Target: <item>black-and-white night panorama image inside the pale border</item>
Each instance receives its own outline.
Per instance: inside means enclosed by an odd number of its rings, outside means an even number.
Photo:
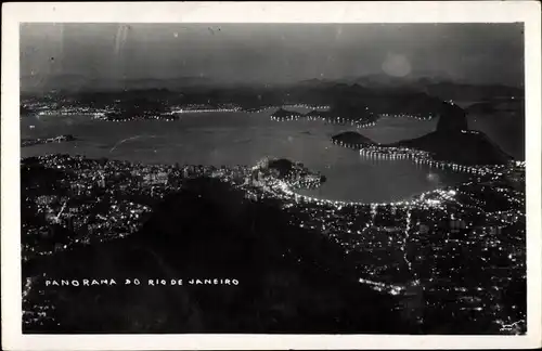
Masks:
[[[525,23],[16,36],[24,336],[534,332]]]

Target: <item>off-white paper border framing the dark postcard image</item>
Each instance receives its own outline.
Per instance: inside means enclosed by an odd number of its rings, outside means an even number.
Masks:
[[[124,2],[2,4],[2,348],[5,350],[465,349],[541,346],[541,24],[538,1]],[[18,24],[93,23],[475,23],[524,22],[526,39],[527,336],[23,336],[20,247]]]

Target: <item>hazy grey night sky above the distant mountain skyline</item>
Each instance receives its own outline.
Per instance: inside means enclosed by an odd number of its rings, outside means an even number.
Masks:
[[[519,86],[522,24],[25,24],[23,86],[205,77],[295,82],[383,74]]]

